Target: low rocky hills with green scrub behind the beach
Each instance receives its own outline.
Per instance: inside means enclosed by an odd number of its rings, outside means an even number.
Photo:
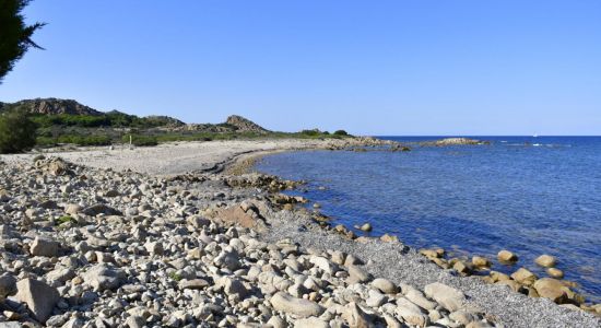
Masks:
[[[209,141],[248,138],[347,138],[318,130],[297,133],[269,131],[241,116],[222,124],[185,124],[169,116],[139,117],[119,110],[101,112],[72,99],[37,98],[1,103],[4,110],[24,110],[37,125],[38,147],[62,144],[108,145],[129,143],[154,145],[168,141]]]

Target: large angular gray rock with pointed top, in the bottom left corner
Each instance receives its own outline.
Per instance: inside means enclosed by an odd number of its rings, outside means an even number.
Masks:
[[[19,281],[16,290],[15,298],[27,304],[33,317],[40,323],[48,319],[60,300],[57,289],[30,278]]]

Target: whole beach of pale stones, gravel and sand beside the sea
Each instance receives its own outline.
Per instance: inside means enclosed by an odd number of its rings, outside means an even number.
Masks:
[[[599,305],[582,311],[462,277],[394,236],[349,238],[295,207],[306,199],[280,194],[298,183],[244,169],[270,152],[382,143],[2,155],[0,327],[601,326]],[[507,280],[542,296],[564,288],[523,279]]]

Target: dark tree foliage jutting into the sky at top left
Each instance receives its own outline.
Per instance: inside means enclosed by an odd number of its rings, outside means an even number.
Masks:
[[[0,0],[0,84],[30,47],[42,49],[32,35],[44,23],[26,25],[21,11],[31,0]]]

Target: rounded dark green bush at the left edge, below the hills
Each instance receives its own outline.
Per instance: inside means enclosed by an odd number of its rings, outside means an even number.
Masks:
[[[0,115],[0,153],[19,153],[35,145],[36,125],[25,112],[11,110]]]

